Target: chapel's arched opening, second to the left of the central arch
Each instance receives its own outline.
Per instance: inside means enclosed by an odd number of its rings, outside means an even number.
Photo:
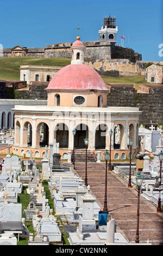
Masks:
[[[49,145],[49,127],[46,123],[40,123],[36,128],[36,146],[44,148]]]

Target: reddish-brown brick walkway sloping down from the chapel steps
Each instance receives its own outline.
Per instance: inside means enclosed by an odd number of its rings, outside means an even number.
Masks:
[[[76,163],[76,170],[85,178],[85,163]],[[105,188],[105,163],[87,163],[87,180],[97,203],[103,210]],[[137,191],[128,188],[121,175],[108,172],[107,202],[109,214],[115,218],[124,237],[135,243],[137,220]],[[147,240],[153,245],[163,245],[163,214],[156,212],[156,205],[140,195],[140,243]]]

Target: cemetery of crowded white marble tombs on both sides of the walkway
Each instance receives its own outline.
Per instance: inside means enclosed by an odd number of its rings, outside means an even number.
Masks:
[[[159,156],[163,154],[162,130],[156,130],[154,144],[151,139],[151,152],[146,150],[146,133],[150,131],[140,126],[141,148],[134,162],[115,161],[111,163],[111,169],[127,182],[130,178],[133,187],[136,186],[136,175],[141,172],[141,196],[155,205],[160,202],[161,208],[163,192],[160,189]],[[116,220],[109,211],[102,211],[91,186],[86,186],[82,176],[75,171],[72,151],[67,161],[62,162],[59,145],[54,139],[49,145],[49,155],[45,151],[41,159],[40,168],[32,157],[32,150],[29,157],[23,159],[11,156],[10,144],[7,149],[8,153],[1,161],[0,174],[1,245],[18,245],[24,237],[29,246],[136,245],[130,243],[123,233],[117,232]],[[154,156],[152,160],[149,157],[151,153]],[[97,161],[105,168],[101,156],[98,155]],[[23,210],[18,199],[20,194],[29,196]],[[147,241],[143,244],[151,245]]]

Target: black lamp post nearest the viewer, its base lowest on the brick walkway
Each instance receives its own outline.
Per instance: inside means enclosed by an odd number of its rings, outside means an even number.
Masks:
[[[136,176],[136,185],[137,185],[137,227],[136,227],[136,243],[139,243],[139,210],[140,210],[140,188],[142,185],[142,175],[140,173],[138,173],[138,175]]]

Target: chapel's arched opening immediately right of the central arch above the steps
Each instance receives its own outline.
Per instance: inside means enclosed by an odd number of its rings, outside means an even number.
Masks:
[[[105,124],[99,124],[96,128],[95,149],[105,149],[106,131],[108,127]]]

